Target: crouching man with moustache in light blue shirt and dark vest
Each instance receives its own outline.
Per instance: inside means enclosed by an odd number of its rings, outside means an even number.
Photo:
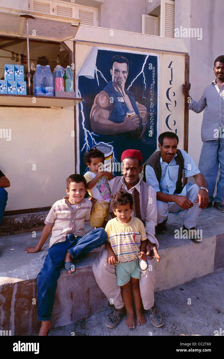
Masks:
[[[157,198],[157,228],[159,234],[166,231],[166,221],[169,213],[183,215],[183,228],[196,229],[195,220],[201,208],[207,206],[209,197],[205,178],[196,167],[192,158],[184,151],[177,150],[178,136],[173,132],[164,132],[159,136],[160,151],[153,154],[146,162],[146,182],[156,191]],[[183,170],[185,177],[193,176],[195,185],[191,182],[182,186]],[[191,238],[200,243],[202,238]]]

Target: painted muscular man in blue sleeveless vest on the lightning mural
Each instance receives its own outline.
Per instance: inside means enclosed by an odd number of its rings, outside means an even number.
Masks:
[[[124,56],[115,55],[111,59],[112,81],[95,97],[91,112],[91,128],[102,135],[115,135],[129,132],[131,136],[141,137],[145,132],[147,109],[135,101],[124,88],[128,76],[129,62]],[[128,111],[136,114],[127,117]]]

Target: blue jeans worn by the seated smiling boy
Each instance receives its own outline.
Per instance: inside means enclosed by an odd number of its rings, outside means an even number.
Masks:
[[[103,228],[93,229],[85,236],[75,237],[68,234],[64,242],[53,244],[46,255],[44,265],[37,275],[38,320],[50,320],[55,301],[57,280],[60,277],[61,266],[68,251],[72,258],[84,256],[93,248],[105,244],[108,235]]]

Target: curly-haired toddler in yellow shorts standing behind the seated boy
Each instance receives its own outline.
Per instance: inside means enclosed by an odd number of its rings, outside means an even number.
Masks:
[[[93,197],[96,202],[94,203],[94,210],[90,216],[90,225],[94,228],[105,228],[108,221],[109,203],[110,203],[110,189],[108,180],[112,180],[114,175],[108,171],[100,170],[104,163],[104,154],[91,148],[86,152],[84,162],[90,171],[84,174],[87,182],[88,194]]]

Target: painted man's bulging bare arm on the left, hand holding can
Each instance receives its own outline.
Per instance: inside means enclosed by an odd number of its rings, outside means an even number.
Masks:
[[[101,91],[96,95],[91,112],[90,122],[91,129],[101,135],[115,135],[136,129],[139,126],[139,118],[137,115],[133,117],[124,117],[124,122],[115,123],[109,120],[113,111],[113,103],[106,91]]]

